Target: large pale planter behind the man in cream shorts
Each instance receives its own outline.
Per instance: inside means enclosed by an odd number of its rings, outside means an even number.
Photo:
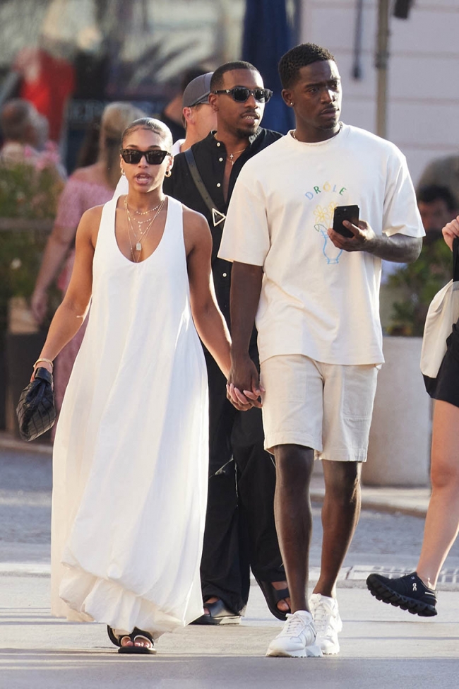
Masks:
[[[378,374],[366,485],[428,485],[431,399],[419,369],[422,338],[385,337]]]

